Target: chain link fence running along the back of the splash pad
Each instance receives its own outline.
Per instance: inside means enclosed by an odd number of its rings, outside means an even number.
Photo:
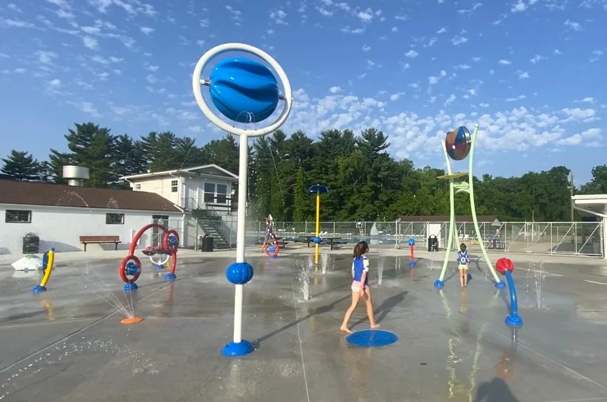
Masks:
[[[234,217],[234,219],[236,219]],[[447,240],[448,222],[321,222],[319,232],[325,236],[341,237],[352,243],[360,240],[372,243],[408,247],[410,237],[426,242],[430,234],[439,238],[441,248]],[[601,222],[504,222],[479,223],[480,239],[471,222],[456,223],[459,243],[472,250],[480,250],[480,241],[492,251],[525,252],[531,254],[567,254],[601,257],[603,227]],[[259,237],[266,228],[265,222],[247,223],[247,236]],[[310,236],[316,232],[314,222],[275,222],[274,231],[279,237]]]

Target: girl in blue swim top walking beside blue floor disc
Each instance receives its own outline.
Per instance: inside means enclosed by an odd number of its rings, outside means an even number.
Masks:
[[[375,315],[373,314],[373,303],[371,301],[371,288],[369,287],[369,259],[366,254],[369,252],[369,245],[366,241],[359,242],[354,248],[354,261],[352,261],[352,304],[346,311],[344,323],[341,324],[341,330],[350,334],[352,331],[348,329],[348,321],[354,310],[358,306],[361,297],[364,297],[367,305],[367,316],[371,328],[379,328],[379,324],[375,323]]]

